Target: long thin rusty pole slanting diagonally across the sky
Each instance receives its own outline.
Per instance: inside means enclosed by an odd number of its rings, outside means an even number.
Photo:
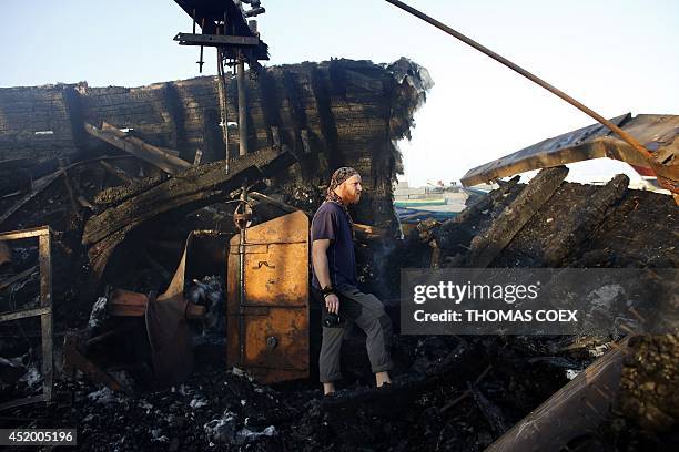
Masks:
[[[530,72],[526,71],[521,66],[519,66],[517,64],[514,64],[511,61],[507,60],[506,58],[495,53],[490,49],[479,44],[478,42],[476,42],[476,41],[465,37],[460,32],[453,30],[450,27],[446,25],[445,23],[442,23],[442,22],[437,21],[436,19],[434,19],[434,18],[432,18],[432,17],[429,17],[429,16],[427,16],[427,14],[425,14],[425,13],[418,11],[418,10],[416,10],[413,7],[407,6],[406,3],[402,2],[402,1],[398,1],[398,0],[386,0],[386,1],[392,3],[392,4],[394,4],[395,7],[398,7],[398,8],[403,9],[404,11],[407,11],[411,14],[413,14],[413,16],[422,19],[422,20],[424,20],[425,22],[436,27],[437,29],[439,29],[442,31],[445,31],[446,33],[448,33],[448,34],[459,39],[465,44],[468,44],[468,45],[473,47],[474,49],[485,53],[488,56],[490,56],[495,61],[497,61],[497,62],[506,65],[507,68],[511,69],[513,71],[516,71],[519,74],[524,75],[526,79],[537,83],[538,85],[543,86],[545,90],[547,90],[550,93],[559,96],[560,99],[563,99],[564,101],[568,102],[569,104],[571,104],[576,109],[585,112],[589,116],[591,116],[595,120],[597,120],[599,123],[604,124],[605,126],[607,126],[608,129],[614,131],[627,144],[629,144],[635,150],[637,150],[646,158],[648,158],[648,160],[652,158],[652,154],[646,147],[643,147],[634,136],[631,136],[630,134],[625,132],[622,129],[618,127],[617,125],[615,125],[614,123],[608,121],[606,117],[604,117],[600,114],[598,114],[597,112],[595,112],[594,110],[591,110],[591,109],[587,107],[586,105],[581,104],[580,102],[576,101],[575,99],[572,99],[571,96],[569,96],[565,92],[563,92],[563,91],[556,89],[555,86],[550,85],[549,83],[547,83],[543,79],[531,74]]]

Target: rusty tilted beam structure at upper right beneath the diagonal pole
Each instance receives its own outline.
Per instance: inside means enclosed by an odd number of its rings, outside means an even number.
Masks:
[[[652,158],[641,157],[630,145],[614,136],[607,127],[595,124],[545,140],[469,170],[462,183],[472,186],[531,170],[609,157],[634,166],[652,168],[658,175],[658,182],[668,189],[672,189],[668,183],[679,184],[679,115],[640,114],[632,119],[631,114],[627,113],[612,119],[611,122],[652,152]]]

